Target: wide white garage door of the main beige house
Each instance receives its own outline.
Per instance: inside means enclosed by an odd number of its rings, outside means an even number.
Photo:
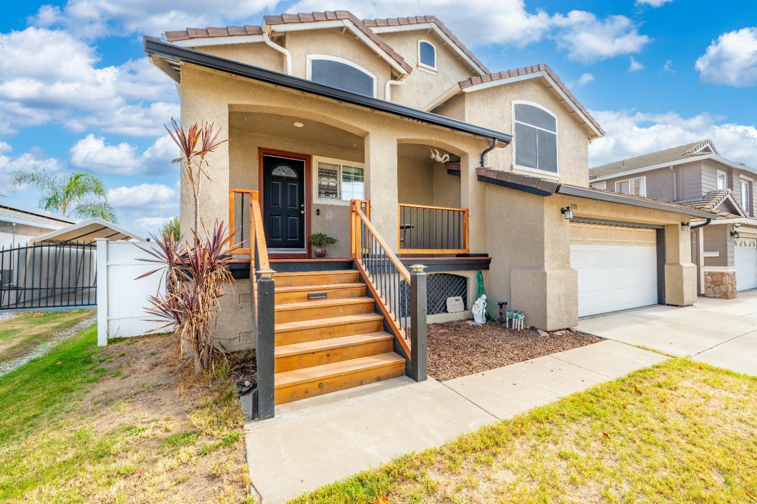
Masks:
[[[657,304],[655,230],[575,222],[570,227],[579,317]]]

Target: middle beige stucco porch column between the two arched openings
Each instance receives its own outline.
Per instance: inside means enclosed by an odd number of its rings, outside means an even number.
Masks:
[[[376,128],[366,136],[366,199],[371,222],[397,252],[397,136]]]

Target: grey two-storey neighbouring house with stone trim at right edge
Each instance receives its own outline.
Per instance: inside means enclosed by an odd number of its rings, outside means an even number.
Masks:
[[[757,289],[757,169],[724,158],[711,140],[615,161],[589,170],[597,189],[714,211],[691,231],[698,292],[734,299]]]

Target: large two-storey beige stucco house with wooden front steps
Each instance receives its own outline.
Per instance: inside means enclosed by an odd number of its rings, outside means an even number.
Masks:
[[[360,20],[346,11],[167,32],[145,37],[145,52],[178,84],[182,124],[213,122],[229,136],[208,156],[204,222],[232,221],[237,252],[249,254],[250,211],[260,205],[278,271],[277,402],[389,377],[398,372],[392,355],[400,365],[410,357],[397,333],[407,334],[407,280],[395,283],[403,267],[394,252],[403,265],[428,266],[429,320],[449,296],[470,308],[478,270],[492,304],[506,301],[545,330],[696,301],[684,226],[714,214],[591,189],[588,145],[603,130],[544,64],[493,74],[435,17]],[[182,179],[185,229],[191,199]],[[352,200],[369,200],[369,209]],[[309,259],[316,232],[339,240],[332,258]],[[249,278],[249,256],[238,257],[236,277]],[[378,321],[373,299],[360,304],[362,282],[380,298]],[[218,340],[249,348],[249,286],[223,302]],[[397,336],[396,353],[371,340],[390,353],[354,359],[373,355],[363,337],[382,329]],[[335,356],[345,337],[360,352]],[[312,357],[312,368],[279,361],[298,355]],[[354,365],[344,371],[354,380],[323,378],[335,360]]]

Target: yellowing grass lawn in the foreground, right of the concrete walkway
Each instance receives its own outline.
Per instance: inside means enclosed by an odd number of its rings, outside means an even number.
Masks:
[[[293,502],[382,496],[757,502],[757,378],[674,358]]]

